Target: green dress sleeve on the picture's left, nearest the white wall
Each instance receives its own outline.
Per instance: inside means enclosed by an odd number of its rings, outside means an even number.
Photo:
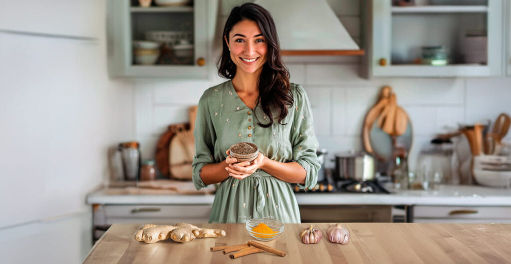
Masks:
[[[208,92],[209,91],[206,90],[199,100],[195,129],[193,132],[195,138],[195,156],[192,162],[192,180],[197,189],[207,187],[200,178],[202,167],[215,162],[213,155],[216,133],[208,107]]]

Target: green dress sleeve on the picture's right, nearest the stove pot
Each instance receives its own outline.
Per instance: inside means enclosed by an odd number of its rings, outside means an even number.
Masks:
[[[306,171],[305,184],[298,184],[300,188],[311,189],[317,183],[317,174],[320,169],[316,150],[318,141],[314,133],[312,110],[307,93],[300,85],[295,85],[293,124],[291,128],[291,144],[293,147],[293,161],[304,167]]]

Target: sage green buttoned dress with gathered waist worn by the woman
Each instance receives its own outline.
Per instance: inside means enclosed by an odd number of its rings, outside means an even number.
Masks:
[[[202,166],[227,158],[225,151],[238,142],[252,142],[266,157],[299,163],[307,172],[301,188],[312,188],[317,182],[319,163],[312,111],[304,88],[291,84],[294,103],[286,118],[263,128],[268,116],[260,107],[255,115],[236,93],[229,80],[207,89],[199,101],[195,122],[195,156],[193,182],[197,189],[206,187],[200,178]],[[272,112],[274,113],[274,112]],[[275,118],[276,114],[273,114]],[[229,177],[217,189],[210,223],[245,223],[251,218],[270,218],[284,223],[300,223],[300,211],[291,184],[259,169],[238,180]]]

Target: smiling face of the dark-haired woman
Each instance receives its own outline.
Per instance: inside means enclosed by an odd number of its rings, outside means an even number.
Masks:
[[[230,58],[237,66],[237,71],[260,73],[266,62],[268,45],[259,26],[251,20],[242,20],[229,32]],[[225,38],[225,37],[224,37]]]

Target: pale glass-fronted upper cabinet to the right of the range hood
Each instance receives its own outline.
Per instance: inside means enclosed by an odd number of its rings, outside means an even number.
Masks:
[[[502,0],[366,4],[367,77],[502,75]]]

